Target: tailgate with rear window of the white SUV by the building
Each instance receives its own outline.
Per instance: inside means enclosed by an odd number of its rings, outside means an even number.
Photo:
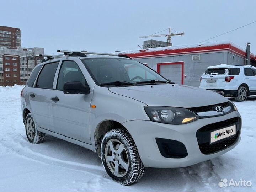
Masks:
[[[210,68],[202,75],[201,87],[218,89],[226,86],[226,75],[228,68]]]

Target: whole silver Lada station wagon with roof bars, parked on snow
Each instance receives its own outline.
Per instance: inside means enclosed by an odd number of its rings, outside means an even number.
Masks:
[[[240,142],[241,116],[225,97],[125,55],[63,52],[37,65],[21,92],[29,142],[49,134],[91,149],[122,185],[145,167],[194,165]]]

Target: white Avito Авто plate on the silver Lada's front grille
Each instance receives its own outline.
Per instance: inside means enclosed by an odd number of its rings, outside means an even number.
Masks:
[[[230,126],[211,132],[211,143],[225,139],[236,134],[236,126]]]

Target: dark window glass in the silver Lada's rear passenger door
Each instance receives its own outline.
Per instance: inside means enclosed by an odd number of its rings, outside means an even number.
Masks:
[[[52,89],[58,64],[59,62],[44,65],[41,73],[39,74],[36,87]]]

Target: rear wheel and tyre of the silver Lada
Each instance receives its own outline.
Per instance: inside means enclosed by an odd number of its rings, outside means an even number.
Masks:
[[[25,121],[26,135],[30,143],[38,144],[44,141],[45,134],[37,130],[31,113],[28,113]]]

